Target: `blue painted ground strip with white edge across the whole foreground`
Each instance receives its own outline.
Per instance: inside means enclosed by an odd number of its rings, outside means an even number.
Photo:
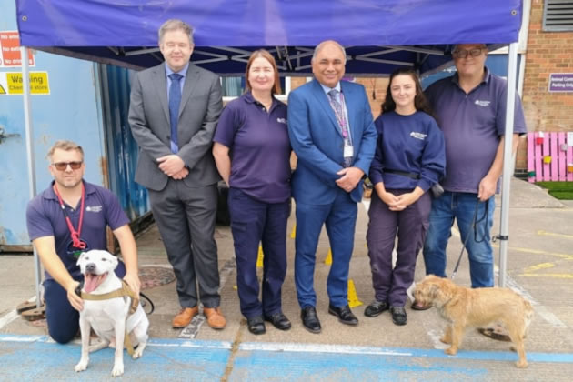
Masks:
[[[75,373],[80,345],[56,344],[46,336],[0,335],[2,380],[102,380],[110,377],[114,350],[90,355],[88,369]],[[487,380],[488,365],[517,360],[513,352],[401,347],[353,347],[246,342],[233,351],[228,341],[153,338],[141,359],[125,353],[124,380]],[[484,363],[483,361],[488,361]],[[528,353],[530,363],[573,363],[573,354]],[[508,365],[513,367],[513,365]]]

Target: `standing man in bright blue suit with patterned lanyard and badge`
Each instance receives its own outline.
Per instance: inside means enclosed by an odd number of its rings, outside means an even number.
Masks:
[[[288,97],[288,131],[297,154],[292,192],[297,202],[295,283],[303,325],[321,330],[313,286],[323,224],[332,249],[328,313],[343,324],[358,320],[347,304],[348,267],[354,247],[362,178],[374,157],[377,131],[362,85],[340,81],[346,53],[336,41],[317,45],[315,79]]]

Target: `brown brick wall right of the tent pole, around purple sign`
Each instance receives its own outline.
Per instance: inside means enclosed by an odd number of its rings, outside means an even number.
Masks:
[[[549,93],[551,73],[573,73],[573,32],[545,32],[544,0],[531,0],[523,84],[528,131],[573,131],[573,93]],[[527,145],[521,142],[516,169],[527,169]]]

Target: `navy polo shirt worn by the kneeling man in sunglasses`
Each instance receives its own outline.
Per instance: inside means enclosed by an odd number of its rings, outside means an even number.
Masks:
[[[119,205],[119,200],[111,191],[85,181],[84,185],[84,223],[80,238],[87,244],[86,249],[107,249],[106,226],[116,230],[120,226],[129,224],[129,219]],[[54,181],[28,203],[25,212],[28,236],[30,240],[54,236],[55,252],[70,275],[77,278],[80,275],[80,269],[76,266],[77,259],[72,253],[72,236],[65,223],[65,216],[53,186]],[[65,204],[65,210],[75,229],[78,228],[79,223],[79,206],[78,203],[78,208],[75,209]],[[50,279],[52,276],[46,272],[45,278]]]

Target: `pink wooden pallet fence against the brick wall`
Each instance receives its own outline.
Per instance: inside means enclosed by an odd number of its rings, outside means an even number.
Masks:
[[[543,143],[538,144],[539,132],[528,133],[528,181],[573,181],[573,172],[568,171],[568,164],[573,165],[573,146],[567,146],[567,133],[542,134]],[[544,161],[544,158],[548,157]],[[550,158],[550,163],[547,163]],[[569,170],[571,167],[569,167]]]

